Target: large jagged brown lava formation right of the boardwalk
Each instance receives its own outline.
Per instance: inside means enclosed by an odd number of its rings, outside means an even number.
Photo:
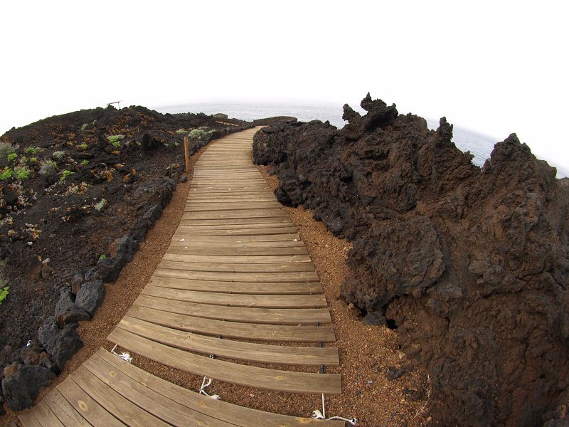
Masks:
[[[569,381],[568,179],[515,134],[479,168],[445,117],[368,96],[342,130],[284,122],[255,136],[278,199],[353,241],[343,296],[398,327],[430,372],[444,425],[560,426]]]

